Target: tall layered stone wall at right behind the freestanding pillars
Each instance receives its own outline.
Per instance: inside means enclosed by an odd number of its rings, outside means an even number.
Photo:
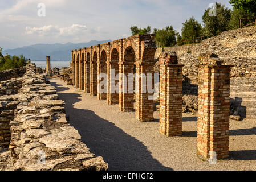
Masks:
[[[174,51],[178,64],[184,64],[183,111],[197,109],[197,74],[202,53],[215,53],[231,68],[231,114],[253,119],[256,114],[254,89],[256,77],[256,26],[222,32],[219,36],[205,39],[200,44],[157,48],[155,72],[159,72],[159,55]],[[239,89],[238,89],[239,88]],[[249,93],[250,92],[250,93]]]

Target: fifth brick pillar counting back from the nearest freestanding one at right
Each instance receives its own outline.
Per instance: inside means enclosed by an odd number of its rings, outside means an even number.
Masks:
[[[117,61],[107,62],[107,104],[118,104],[119,95],[116,92],[116,86],[119,80],[115,80],[115,77],[119,73],[119,65]]]

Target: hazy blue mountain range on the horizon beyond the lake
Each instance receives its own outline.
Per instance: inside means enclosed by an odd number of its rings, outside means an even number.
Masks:
[[[6,55],[23,55],[26,59],[31,61],[45,61],[46,56],[51,56],[51,61],[71,61],[71,50],[83,47],[95,46],[96,44],[103,44],[111,42],[111,40],[92,40],[86,43],[66,43],[66,44],[34,44],[31,46],[24,46],[15,49],[3,50],[2,54]]]

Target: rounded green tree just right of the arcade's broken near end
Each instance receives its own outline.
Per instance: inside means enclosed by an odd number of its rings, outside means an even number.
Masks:
[[[160,46],[174,46],[176,44],[177,32],[172,26],[167,26],[165,29],[157,30],[154,28],[156,43]]]

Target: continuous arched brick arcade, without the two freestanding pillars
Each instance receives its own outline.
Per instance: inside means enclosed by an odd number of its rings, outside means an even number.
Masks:
[[[136,73],[135,65],[138,67],[137,73],[153,74],[156,51],[156,44],[153,39],[152,35],[135,35],[83,48],[84,52],[83,49],[82,52],[81,49],[73,50],[72,82],[79,87],[79,82],[81,82],[79,78],[84,78],[84,90],[88,93],[90,88],[91,96],[97,96],[98,99],[106,99],[108,104],[118,103],[121,111],[133,111],[135,109],[136,118],[140,121],[153,120],[153,100],[148,99],[153,93],[142,93],[141,84],[143,82],[140,81],[141,78],[137,82],[140,88],[139,92],[135,93],[136,81],[133,76]],[[84,56],[82,58],[79,57],[83,53]],[[79,65],[77,63],[81,59],[86,62],[83,65],[84,71],[78,69]],[[111,75],[111,70],[114,73],[113,75]],[[100,73],[107,74],[105,78],[107,79],[107,84],[102,88],[104,90],[103,93],[99,93],[97,89],[97,85],[103,80],[103,78],[97,79],[97,75]],[[119,73],[119,80],[117,73]],[[126,79],[124,79],[124,75]],[[132,75],[130,79],[129,75]],[[128,88],[129,81],[133,82],[131,88]],[[117,90],[120,90],[120,92],[116,92]],[[134,108],[135,100],[137,101]]]

